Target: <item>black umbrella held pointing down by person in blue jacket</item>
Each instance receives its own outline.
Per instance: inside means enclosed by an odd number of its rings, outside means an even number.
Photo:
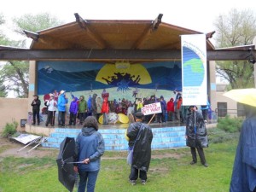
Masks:
[[[77,173],[73,171],[73,155],[75,153],[75,140],[73,137],[66,137],[60,146],[60,153],[57,158],[59,181],[69,190],[73,191]]]

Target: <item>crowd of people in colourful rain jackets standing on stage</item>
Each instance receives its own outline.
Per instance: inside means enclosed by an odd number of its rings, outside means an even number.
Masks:
[[[102,97],[97,96],[96,93],[93,96],[89,96],[88,100],[85,100],[84,96],[72,96],[72,102],[68,106],[68,99],[66,96],[66,91],[61,90],[58,92],[54,90],[53,93],[49,93],[44,97],[44,105],[47,109],[48,118],[45,125],[55,125],[55,113],[58,111],[58,125],[64,126],[66,121],[66,113],[69,113],[69,123],[68,125],[82,125],[82,122],[87,116],[93,115],[99,120],[100,116],[103,114],[103,124],[108,124],[106,115],[107,113],[124,113],[129,115],[129,113],[136,113],[141,111],[143,106],[152,104],[155,102],[160,102],[161,113],[157,113],[154,118],[153,115],[147,115],[144,122],[158,122],[166,123],[167,121],[177,121],[180,123],[185,122],[186,115],[188,113],[189,106],[183,106],[183,98],[180,92],[175,92],[176,98],[172,98],[166,102],[164,96],[148,96],[144,98],[135,98],[134,102],[128,101],[127,99],[113,99],[113,101],[108,101],[109,93],[104,89],[102,91]],[[41,102],[38,96],[34,96],[32,102],[32,113],[33,113],[33,125],[36,124],[36,119],[38,120],[38,125],[40,124],[39,111]],[[206,106],[201,106],[201,111],[203,113],[204,120],[207,122],[208,110],[210,109],[209,103]],[[67,111],[68,110],[68,111]],[[152,119],[153,118],[153,119]]]

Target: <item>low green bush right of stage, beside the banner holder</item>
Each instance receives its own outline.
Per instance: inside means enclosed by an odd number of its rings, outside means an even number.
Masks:
[[[242,121],[243,119],[230,118],[230,116],[227,115],[224,119],[218,119],[217,127],[220,130],[234,133],[237,131],[241,131]]]

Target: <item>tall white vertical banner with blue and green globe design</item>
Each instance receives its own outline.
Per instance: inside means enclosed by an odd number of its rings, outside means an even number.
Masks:
[[[205,34],[182,35],[183,105],[207,105]]]

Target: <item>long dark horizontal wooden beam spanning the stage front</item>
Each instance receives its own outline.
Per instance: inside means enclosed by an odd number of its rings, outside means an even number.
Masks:
[[[246,61],[256,50],[208,50],[207,61]],[[179,61],[177,49],[0,49],[0,61]]]

